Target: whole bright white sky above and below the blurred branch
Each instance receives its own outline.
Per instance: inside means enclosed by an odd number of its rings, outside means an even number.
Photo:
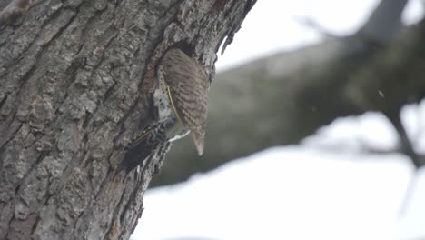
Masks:
[[[351,34],[377,3],[259,0],[217,68],[321,40],[296,17],[309,17],[335,35]],[[413,23],[422,12],[420,0],[410,0],[404,20]],[[412,136],[424,122],[420,114],[425,117],[425,104],[403,111]],[[415,136],[416,146],[425,152],[422,138]],[[403,155],[359,151],[364,145],[390,149],[396,144],[384,117],[337,119],[303,143],[275,147],[187,183],[149,191],[132,238],[425,239],[425,175],[400,216],[412,165]]]

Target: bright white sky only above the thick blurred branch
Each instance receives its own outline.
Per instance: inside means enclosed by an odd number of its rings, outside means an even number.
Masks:
[[[334,35],[355,32],[371,14],[379,0],[258,0],[242,23],[242,28],[216,63],[218,71],[249,60],[318,43],[321,35],[302,25],[309,18]],[[420,0],[410,0],[403,14],[407,24],[423,14]]]

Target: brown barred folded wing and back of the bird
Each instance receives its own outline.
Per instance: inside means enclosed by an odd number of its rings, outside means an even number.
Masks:
[[[183,125],[191,130],[198,154],[203,154],[209,82],[203,67],[180,49],[163,55],[163,77]]]

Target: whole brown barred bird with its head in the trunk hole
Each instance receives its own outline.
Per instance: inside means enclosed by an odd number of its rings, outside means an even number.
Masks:
[[[198,154],[203,155],[210,86],[203,67],[182,50],[172,48],[163,55],[156,79],[153,105],[158,119],[143,130],[124,155],[120,168],[127,173],[137,165],[144,164],[148,157],[164,155],[171,142],[189,133]]]

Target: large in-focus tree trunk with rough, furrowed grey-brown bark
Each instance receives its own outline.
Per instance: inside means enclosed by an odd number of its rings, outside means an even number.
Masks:
[[[124,181],[114,167],[154,121],[157,60],[175,45],[213,78],[254,3],[46,0],[4,25],[0,239],[128,239],[161,163]]]

